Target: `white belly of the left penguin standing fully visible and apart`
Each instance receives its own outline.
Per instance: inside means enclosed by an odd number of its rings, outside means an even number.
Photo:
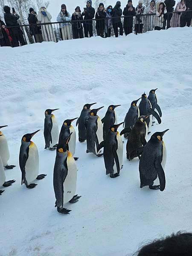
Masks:
[[[27,185],[32,183],[35,180],[39,173],[39,154],[38,149],[35,143],[31,141],[29,145],[29,156],[26,160],[25,165],[25,178],[27,181]]]

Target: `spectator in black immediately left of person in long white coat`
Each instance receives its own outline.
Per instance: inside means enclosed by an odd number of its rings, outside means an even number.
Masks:
[[[41,43],[43,41],[41,34],[41,26],[38,26],[38,18],[33,8],[29,8],[28,22],[30,25],[31,35],[35,38],[35,43]]]

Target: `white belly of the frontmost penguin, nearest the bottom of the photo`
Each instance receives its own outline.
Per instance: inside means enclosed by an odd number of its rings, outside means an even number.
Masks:
[[[77,166],[70,151],[67,151],[67,177],[64,180],[64,204],[69,202],[76,193]],[[64,207],[64,206],[63,206]]]

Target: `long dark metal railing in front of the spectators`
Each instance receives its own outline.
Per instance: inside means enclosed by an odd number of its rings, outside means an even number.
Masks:
[[[192,11],[107,17],[105,19],[71,20],[64,22],[38,23],[7,27],[13,47],[42,41],[62,41],[88,36],[113,37],[145,33],[151,30],[169,29],[177,26],[192,26]]]

